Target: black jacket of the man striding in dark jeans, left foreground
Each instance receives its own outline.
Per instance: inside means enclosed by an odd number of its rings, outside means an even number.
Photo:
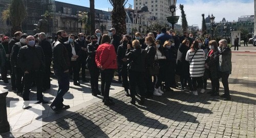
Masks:
[[[53,47],[53,68],[54,70],[67,71],[70,66],[70,58],[65,43],[56,41]]]

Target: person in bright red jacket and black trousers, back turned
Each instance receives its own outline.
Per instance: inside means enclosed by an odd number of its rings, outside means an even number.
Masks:
[[[109,94],[114,72],[117,69],[116,52],[114,46],[110,44],[110,37],[107,34],[102,36],[101,43],[96,51],[95,62],[100,68],[103,102],[104,105],[109,106],[115,104]]]

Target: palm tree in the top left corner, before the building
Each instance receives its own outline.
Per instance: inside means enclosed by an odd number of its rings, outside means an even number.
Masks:
[[[11,0],[7,9],[2,12],[4,21],[9,19],[12,24],[11,34],[22,31],[22,22],[26,18],[27,10],[22,0]]]

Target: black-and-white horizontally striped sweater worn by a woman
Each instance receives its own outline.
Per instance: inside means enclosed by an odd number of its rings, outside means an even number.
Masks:
[[[191,49],[188,50],[186,55],[186,61],[190,62],[194,54],[195,54],[195,51],[191,51]],[[204,53],[204,50],[199,49],[189,64],[190,77],[202,77],[204,76],[204,70],[205,70],[205,53]]]

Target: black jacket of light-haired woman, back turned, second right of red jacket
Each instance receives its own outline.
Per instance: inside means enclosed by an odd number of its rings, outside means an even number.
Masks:
[[[144,49],[128,49],[125,57],[129,58],[128,69],[136,72],[145,72],[147,64],[147,52]]]

